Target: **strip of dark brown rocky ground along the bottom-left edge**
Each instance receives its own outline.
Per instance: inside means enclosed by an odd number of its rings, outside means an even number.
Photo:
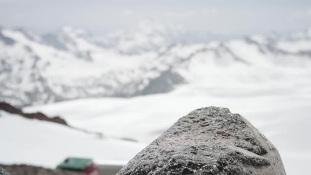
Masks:
[[[38,166],[31,166],[31,165],[0,165],[7,169],[11,175],[78,175],[84,174],[83,172],[77,171],[69,171],[69,170],[62,170],[62,169],[49,169],[43,168]],[[0,174],[1,169],[0,169]],[[4,175],[9,175],[4,174]]]

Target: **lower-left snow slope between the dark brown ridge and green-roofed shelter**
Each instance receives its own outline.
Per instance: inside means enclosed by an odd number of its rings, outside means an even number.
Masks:
[[[50,168],[69,156],[126,162],[145,146],[109,137],[99,139],[64,125],[26,119],[4,111],[0,111],[0,137],[1,163]]]

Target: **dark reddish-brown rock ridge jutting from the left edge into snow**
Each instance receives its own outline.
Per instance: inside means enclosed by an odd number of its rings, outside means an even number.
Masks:
[[[49,122],[55,122],[63,125],[68,125],[67,122],[60,118],[60,117],[48,117],[43,113],[37,112],[37,113],[24,113],[21,111],[19,108],[16,108],[12,106],[9,103],[6,102],[0,102],[0,110],[6,111],[11,114],[18,114],[20,116],[24,116],[29,119],[38,119],[38,120],[44,120],[44,121],[49,121]]]

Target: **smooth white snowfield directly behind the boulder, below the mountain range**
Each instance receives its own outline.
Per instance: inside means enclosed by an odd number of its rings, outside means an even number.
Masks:
[[[26,107],[61,115],[69,123],[108,135],[150,143],[190,111],[204,106],[222,106],[246,117],[278,148],[287,174],[309,173],[311,163],[311,93],[300,88],[257,90],[250,87],[211,90],[185,85],[168,94],[130,99],[98,98]],[[205,92],[205,93],[204,93]]]

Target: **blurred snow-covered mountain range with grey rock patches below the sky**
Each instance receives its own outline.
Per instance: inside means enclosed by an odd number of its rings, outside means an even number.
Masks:
[[[73,27],[46,35],[1,28],[0,100],[29,105],[165,93],[183,84],[260,82],[268,89],[276,81],[310,81],[311,30],[225,42],[189,43],[186,36],[150,21],[104,39]]]

